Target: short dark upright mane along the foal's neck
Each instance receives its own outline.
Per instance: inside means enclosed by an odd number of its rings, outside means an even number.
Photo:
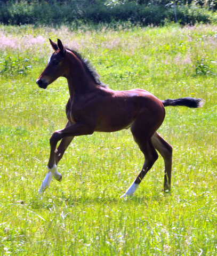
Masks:
[[[69,50],[70,52],[74,53],[78,57],[78,59],[82,61],[85,70],[93,78],[95,83],[97,83],[100,86],[107,87],[107,85],[103,84],[100,81],[100,79],[99,79],[100,76],[98,75],[97,71],[92,66],[92,64],[91,64],[91,62],[89,60],[87,60],[81,53],[79,53],[79,52],[77,52],[75,50],[72,50],[72,49],[69,49],[69,48],[66,48],[66,49]]]

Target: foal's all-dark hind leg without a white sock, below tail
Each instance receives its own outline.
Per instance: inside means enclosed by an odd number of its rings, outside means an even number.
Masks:
[[[164,174],[164,190],[171,189],[171,172],[172,172],[172,154],[173,148],[172,146],[166,142],[160,135],[155,132],[155,134],[151,137],[151,141],[157,151],[164,158],[165,164],[165,174]]]

